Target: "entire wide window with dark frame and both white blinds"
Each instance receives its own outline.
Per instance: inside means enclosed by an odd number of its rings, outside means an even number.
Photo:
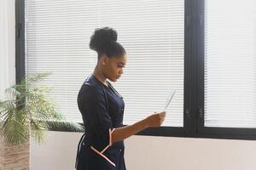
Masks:
[[[125,98],[126,124],[160,111],[168,90],[177,89],[163,126],[139,134],[256,139],[254,0],[17,4],[17,77],[25,64],[28,75],[51,71],[41,85],[53,85],[68,121],[82,121],[76,97],[96,65],[90,35],[110,26],[128,54],[125,74],[114,83]]]

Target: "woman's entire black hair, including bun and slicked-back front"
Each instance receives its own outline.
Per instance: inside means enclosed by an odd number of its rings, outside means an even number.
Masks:
[[[125,52],[125,48],[117,42],[117,31],[110,27],[96,28],[90,37],[90,49],[95,50],[98,58],[102,54],[106,54],[108,58],[121,57]]]

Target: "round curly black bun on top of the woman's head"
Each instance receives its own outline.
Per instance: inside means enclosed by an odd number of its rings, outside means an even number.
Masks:
[[[102,51],[104,44],[107,42],[117,41],[117,31],[109,27],[96,28],[90,37],[90,49],[96,52]]]

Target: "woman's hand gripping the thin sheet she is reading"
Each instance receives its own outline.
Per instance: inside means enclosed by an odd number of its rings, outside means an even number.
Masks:
[[[160,125],[165,121],[166,111],[154,112],[151,116],[146,118],[148,127],[160,127]]]

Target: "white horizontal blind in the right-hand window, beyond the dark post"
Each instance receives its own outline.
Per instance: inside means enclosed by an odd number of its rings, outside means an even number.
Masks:
[[[205,126],[256,127],[256,1],[206,1]]]

